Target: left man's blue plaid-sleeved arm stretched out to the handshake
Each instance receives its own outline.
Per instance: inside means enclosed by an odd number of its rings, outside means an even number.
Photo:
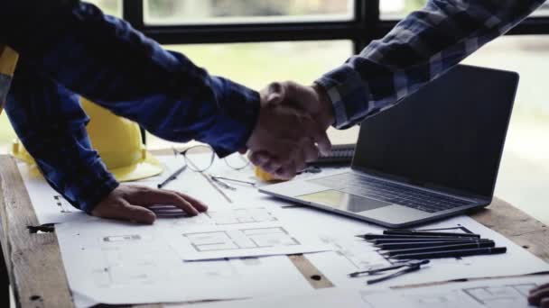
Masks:
[[[174,141],[200,140],[226,155],[243,148],[256,124],[259,95],[211,77],[93,5],[56,16],[48,43],[15,41],[37,70],[114,113]]]

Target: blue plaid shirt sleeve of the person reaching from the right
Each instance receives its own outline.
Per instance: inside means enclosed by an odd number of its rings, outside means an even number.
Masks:
[[[503,35],[544,0],[431,0],[386,37],[316,81],[349,128],[397,104]]]

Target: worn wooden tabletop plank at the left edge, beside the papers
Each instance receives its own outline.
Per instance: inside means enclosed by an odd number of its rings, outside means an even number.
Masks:
[[[0,168],[2,244],[17,306],[74,306],[57,238],[28,231],[38,220],[14,159],[0,156]]]

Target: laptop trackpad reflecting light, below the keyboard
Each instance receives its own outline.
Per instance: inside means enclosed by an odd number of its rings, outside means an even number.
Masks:
[[[352,213],[374,210],[391,205],[387,202],[374,200],[359,195],[350,195],[338,190],[324,190],[309,195],[299,195],[295,198],[314,204],[328,205],[330,207]]]

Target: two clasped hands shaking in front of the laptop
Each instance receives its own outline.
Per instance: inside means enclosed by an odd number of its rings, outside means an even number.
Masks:
[[[330,151],[326,130],[334,122],[333,107],[320,86],[273,83],[260,94],[256,128],[246,144],[254,165],[290,179],[316,160],[319,151]]]

